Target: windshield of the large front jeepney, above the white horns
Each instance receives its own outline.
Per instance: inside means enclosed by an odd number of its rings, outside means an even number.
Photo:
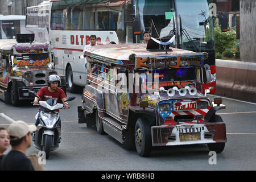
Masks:
[[[140,71],[141,82],[155,82],[157,80],[159,82],[196,80],[196,70],[195,68],[171,68]]]

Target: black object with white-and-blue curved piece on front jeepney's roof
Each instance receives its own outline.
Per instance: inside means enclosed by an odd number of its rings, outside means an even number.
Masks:
[[[147,51],[166,51],[167,54],[167,50],[170,51],[169,47],[170,44],[173,43],[175,40],[175,35],[172,36],[172,38],[151,38],[150,40],[148,40],[147,43]],[[172,51],[172,49],[171,49]]]

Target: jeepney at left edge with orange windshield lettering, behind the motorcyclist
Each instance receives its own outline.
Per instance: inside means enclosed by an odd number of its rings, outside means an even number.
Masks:
[[[57,74],[53,61],[51,45],[34,42],[34,34],[0,40],[0,99],[14,106],[33,100],[28,90],[37,92],[47,85],[49,75]],[[64,77],[59,86],[65,92]]]

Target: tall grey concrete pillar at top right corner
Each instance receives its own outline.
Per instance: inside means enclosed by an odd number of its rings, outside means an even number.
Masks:
[[[240,0],[241,61],[256,63],[256,1]]]

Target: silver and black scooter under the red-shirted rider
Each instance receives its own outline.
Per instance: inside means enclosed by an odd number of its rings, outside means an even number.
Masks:
[[[63,109],[64,107],[63,104],[57,103],[54,99],[40,101],[40,97],[36,95],[36,92],[31,90],[28,92],[38,97],[38,105],[45,109],[40,112],[40,123],[36,127],[35,142],[33,145],[39,150],[46,152],[46,159],[48,159],[50,152],[59,148],[60,115],[56,110]],[[72,101],[75,98],[68,97],[67,101]],[[36,114],[35,119],[38,118],[38,114]]]

